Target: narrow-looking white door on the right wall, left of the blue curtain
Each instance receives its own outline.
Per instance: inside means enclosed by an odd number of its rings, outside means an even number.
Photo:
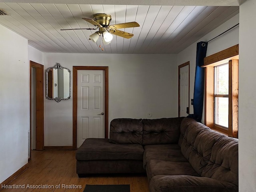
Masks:
[[[189,64],[180,67],[180,117],[189,114]]]

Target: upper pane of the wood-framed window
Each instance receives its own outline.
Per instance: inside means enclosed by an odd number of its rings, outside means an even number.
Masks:
[[[215,94],[228,94],[228,63],[215,67]]]

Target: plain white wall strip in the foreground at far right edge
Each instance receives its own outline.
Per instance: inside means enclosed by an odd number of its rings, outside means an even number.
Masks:
[[[256,192],[256,1],[240,6],[239,31],[239,191]]]

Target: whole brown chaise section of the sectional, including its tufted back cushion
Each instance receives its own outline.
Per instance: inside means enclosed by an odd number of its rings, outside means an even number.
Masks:
[[[76,152],[76,173],[145,173],[142,119],[114,119],[110,139],[87,138]]]

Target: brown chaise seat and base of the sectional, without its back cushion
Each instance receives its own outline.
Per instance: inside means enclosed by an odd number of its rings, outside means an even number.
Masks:
[[[117,145],[109,139],[88,138],[76,153],[76,173],[87,174],[143,173],[143,152],[140,144]]]

